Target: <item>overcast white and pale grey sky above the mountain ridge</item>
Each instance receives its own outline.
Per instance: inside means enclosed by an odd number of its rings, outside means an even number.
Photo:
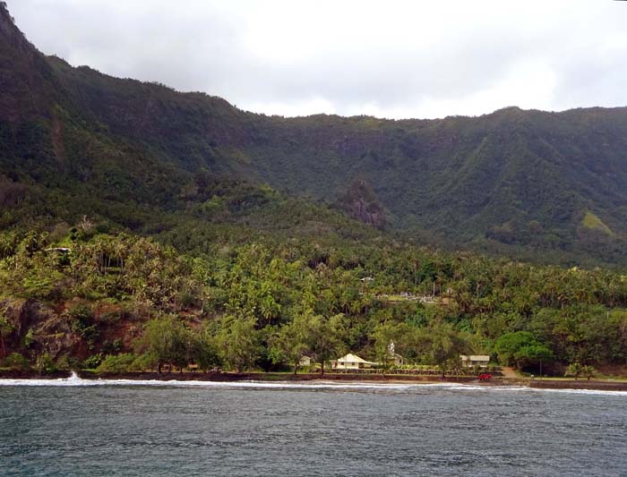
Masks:
[[[627,105],[627,2],[7,0],[73,65],[268,115]]]

